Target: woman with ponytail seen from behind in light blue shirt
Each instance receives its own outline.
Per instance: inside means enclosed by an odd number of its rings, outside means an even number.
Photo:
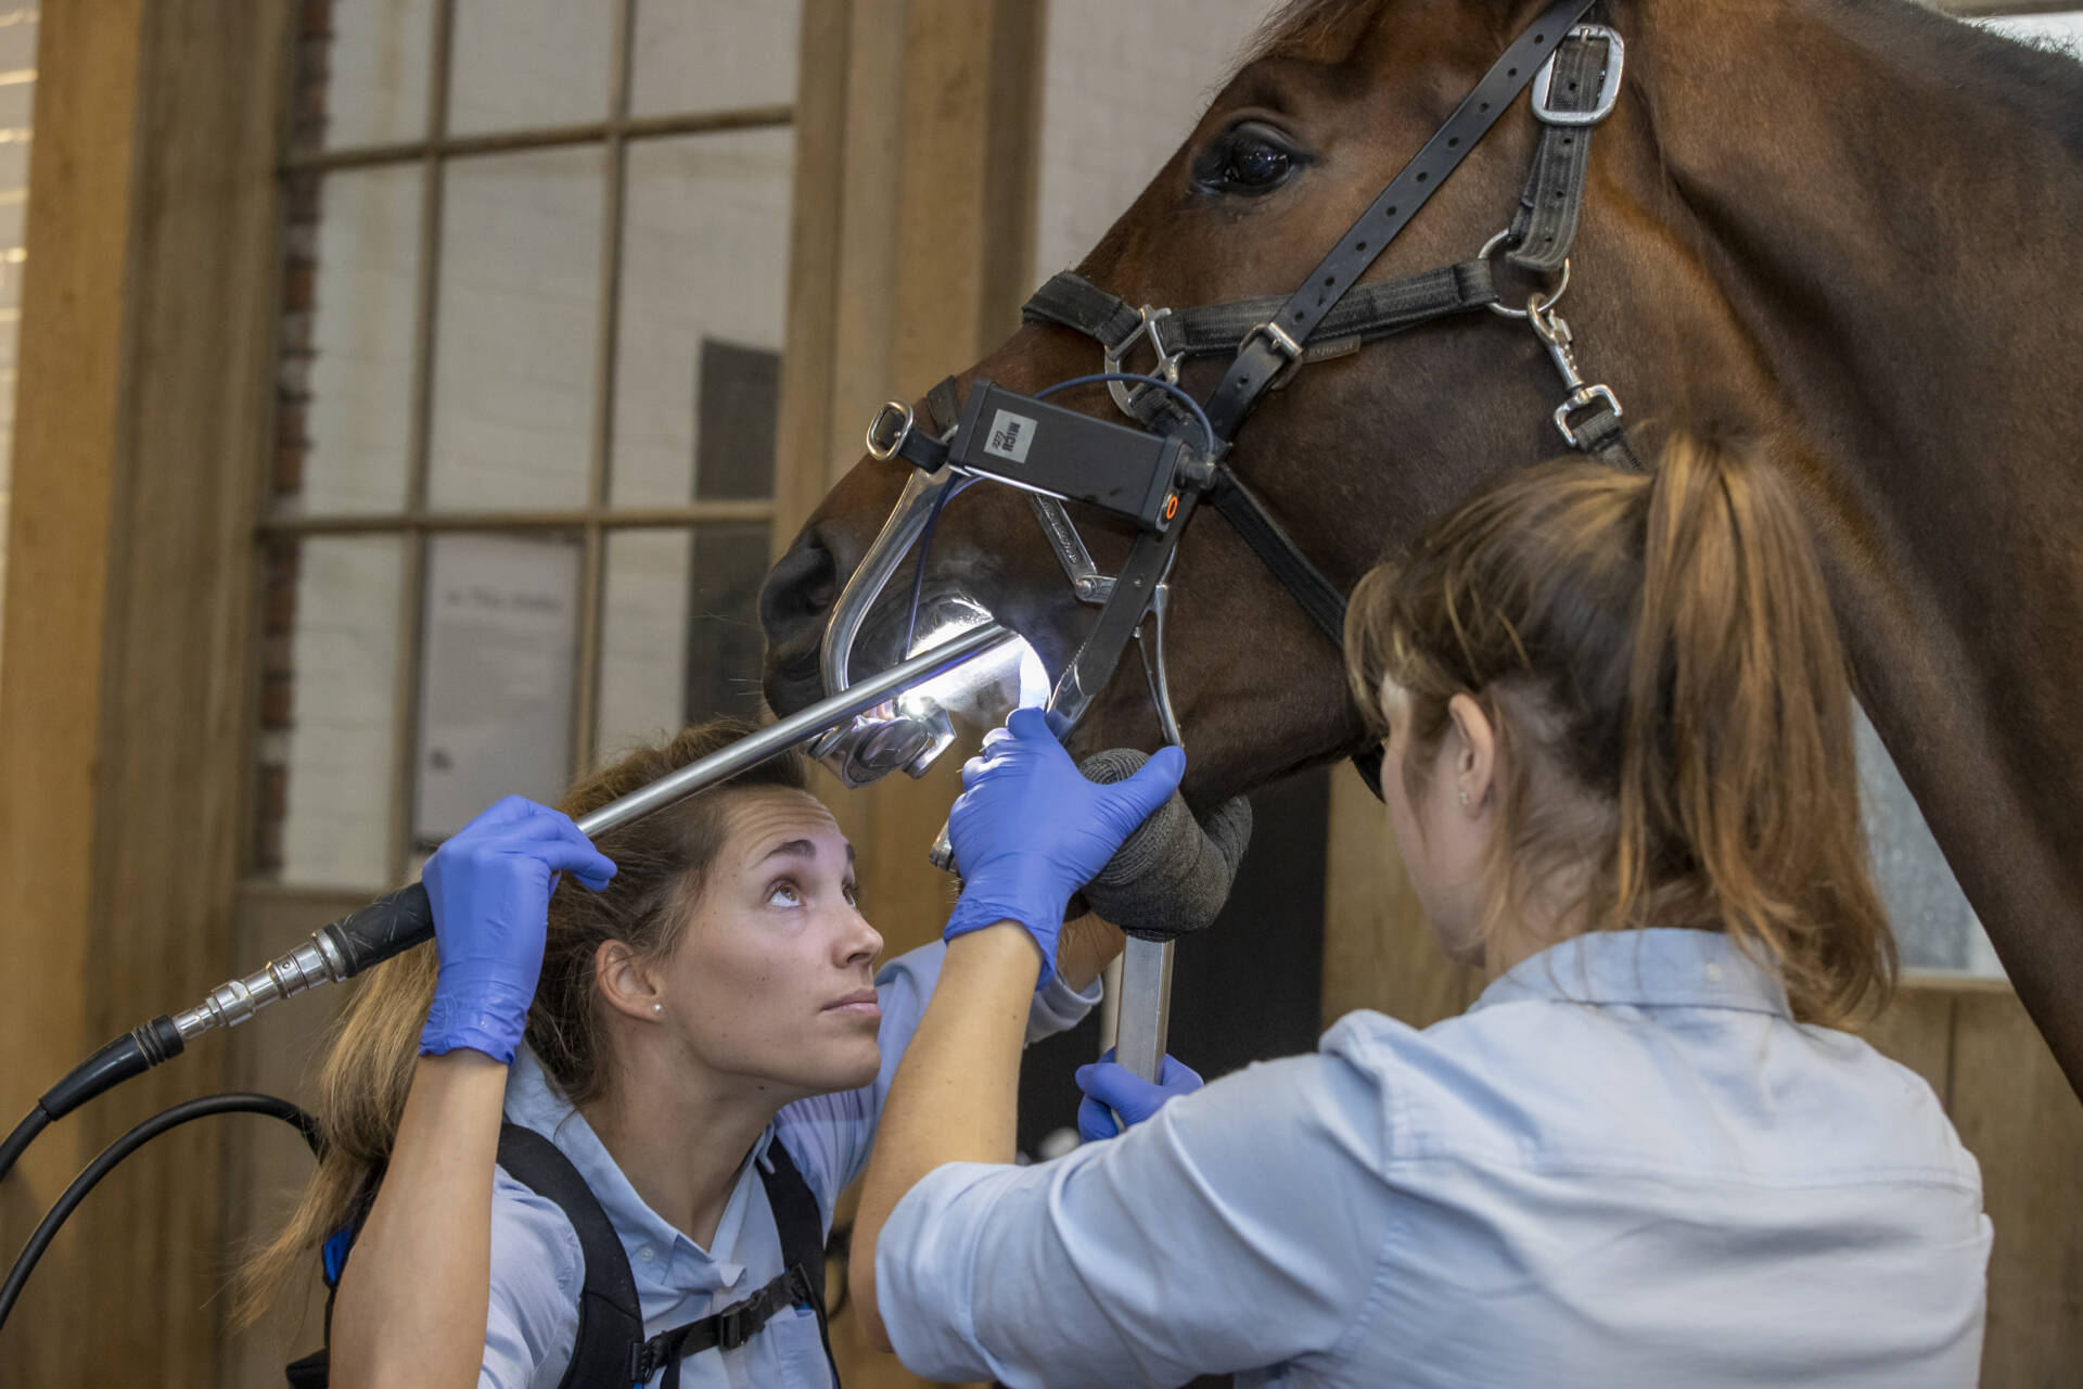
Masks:
[[[1014,1168],[1027,923],[956,941],[854,1229],[871,1331],[1012,1389],[1977,1383],[1981,1175],[1854,1035],[1896,956],[1785,479],[1683,439],[1506,475],[1360,583],[1346,660],[1481,997],[1110,1077],[1127,1133]],[[969,768],[962,862],[1048,810],[1019,771]]]

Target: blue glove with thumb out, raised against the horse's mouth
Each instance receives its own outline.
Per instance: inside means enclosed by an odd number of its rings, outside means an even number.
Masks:
[[[1087,781],[1042,710],[1012,710],[1006,727],[983,739],[983,754],[962,766],[962,795],[948,812],[962,898],[944,937],[1017,920],[1042,948],[1048,983],[1071,893],[1164,804],[1183,771],[1185,754],[1160,748],[1127,781]]]

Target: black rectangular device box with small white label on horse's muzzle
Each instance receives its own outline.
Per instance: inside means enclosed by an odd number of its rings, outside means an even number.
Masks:
[[[1185,444],[1108,425],[992,381],[977,381],[962,406],[950,462],[1064,502],[1089,502],[1162,531],[1179,510],[1179,454]]]

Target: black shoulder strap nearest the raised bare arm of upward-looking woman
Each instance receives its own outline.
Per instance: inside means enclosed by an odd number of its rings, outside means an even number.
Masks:
[[[600,1197],[556,1143],[521,1125],[500,1125],[500,1166],[564,1212],[585,1258],[579,1329],[573,1333],[571,1366],[558,1389],[637,1383],[633,1366],[644,1347],[644,1308],[637,1304],[629,1254],[623,1252],[608,1212],[600,1208]]]

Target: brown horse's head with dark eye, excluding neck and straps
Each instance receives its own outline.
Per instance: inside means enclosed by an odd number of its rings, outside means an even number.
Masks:
[[[1079,273],[1129,304],[1185,308],[1285,296],[1539,8],[1516,0],[1296,6],[1269,25]],[[1525,110],[1508,115],[1466,152],[1369,279],[1475,258],[1510,221],[1535,140]],[[1627,146],[1625,158],[1602,162],[1581,254],[1600,267],[1627,264],[1635,294],[1677,289],[1675,267],[1658,264],[1656,237],[1637,214],[1654,187],[1648,179],[1627,187],[1631,179],[1621,175],[1623,165],[1646,162],[1641,140],[1623,133],[1612,144]],[[1544,283],[1504,269],[1498,279],[1516,302]],[[1675,306],[1675,296],[1660,298]],[[1131,371],[1144,364],[1148,354],[1125,362]],[[1206,396],[1225,364],[1187,362],[1181,385]],[[1094,371],[1096,342],[1029,323],[962,371],[958,392],[967,396],[977,379],[1035,392]],[[1621,377],[1614,389],[1629,383]],[[1489,471],[1558,452],[1562,439],[1548,423],[1556,398],[1554,371],[1533,333],[1477,312],[1306,364],[1252,414],[1231,466],[1300,550],[1350,589],[1369,564]],[[1058,402],[1131,423],[1096,385]],[[923,402],[917,408],[929,416]],[[760,612],[767,693],[777,708],[823,693],[823,625],[906,473],[902,462],[862,458],[775,566]],[[1131,525],[1073,514],[1098,566],[1112,573]],[[996,485],[971,487],[937,525],[925,598],[944,594],[994,610],[1052,671],[1096,612],[1075,600],[1027,500]],[[898,598],[885,594],[867,625],[862,658],[887,664],[896,654]],[[1196,516],[1181,541],[1166,658],[1196,800],[1248,789],[1364,739],[1335,646],[1219,516]],[[1079,743],[1156,743],[1144,677],[1133,658],[1123,664],[1129,668],[1116,671],[1094,704]]]

